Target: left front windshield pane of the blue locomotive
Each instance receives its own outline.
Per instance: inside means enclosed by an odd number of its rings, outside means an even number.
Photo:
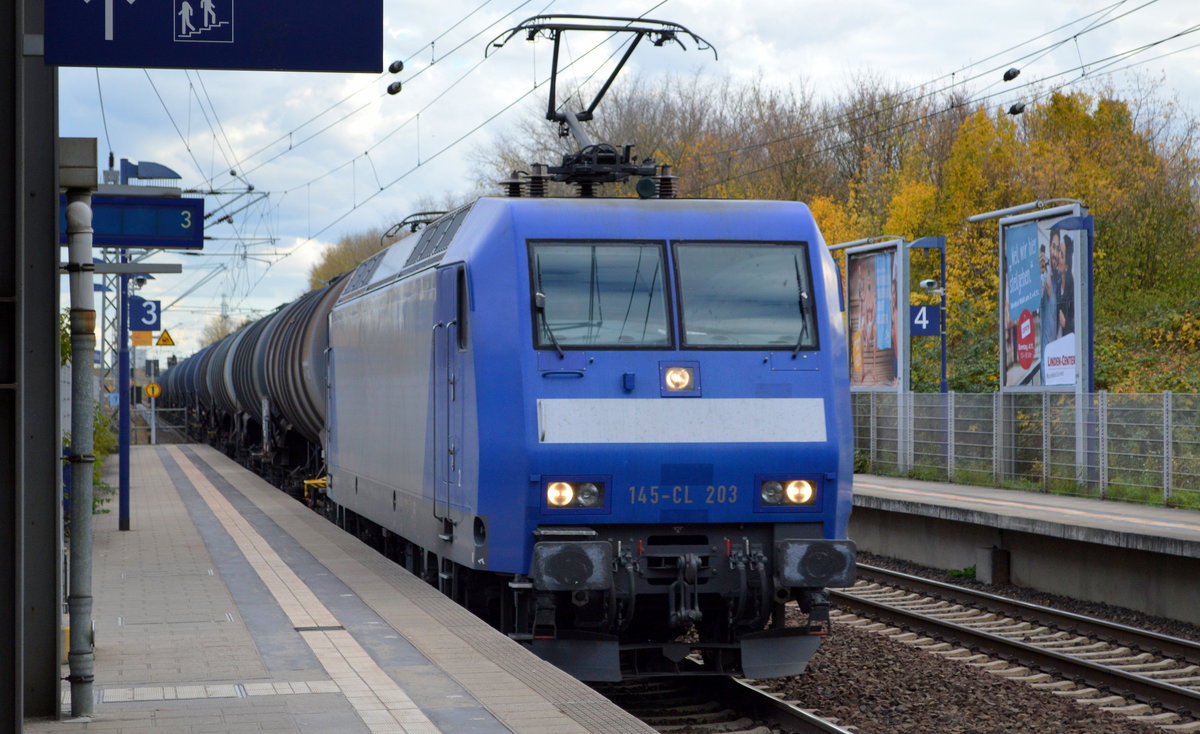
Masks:
[[[539,349],[671,347],[662,245],[533,242],[529,259]]]

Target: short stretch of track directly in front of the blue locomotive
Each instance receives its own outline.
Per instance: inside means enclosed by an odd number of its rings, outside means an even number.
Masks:
[[[853,733],[733,678],[648,678],[593,685],[664,734]]]

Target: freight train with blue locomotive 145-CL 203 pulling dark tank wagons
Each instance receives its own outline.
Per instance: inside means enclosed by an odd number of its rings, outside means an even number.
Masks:
[[[803,204],[485,198],[164,383],[571,673],[763,678],[853,579],[846,365]]]

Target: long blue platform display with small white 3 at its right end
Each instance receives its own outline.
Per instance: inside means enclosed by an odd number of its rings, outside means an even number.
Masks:
[[[67,200],[59,197],[59,243],[67,243]],[[173,197],[91,198],[92,245],[96,247],[204,247],[204,199]]]

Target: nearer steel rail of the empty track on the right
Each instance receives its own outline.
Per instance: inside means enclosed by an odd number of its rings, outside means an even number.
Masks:
[[[1193,718],[1200,717],[1200,692],[1073,657],[1055,650],[1008,639],[966,625],[943,621],[844,591],[830,590],[835,603],[858,614],[979,650],[1046,673],[1084,681],[1142,703],[1160,705]]]

